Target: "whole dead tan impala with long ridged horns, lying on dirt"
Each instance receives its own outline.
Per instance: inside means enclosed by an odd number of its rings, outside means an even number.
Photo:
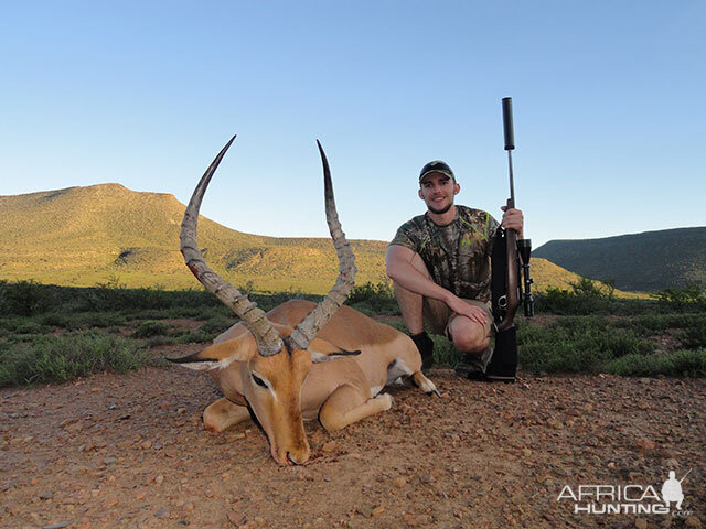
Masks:
[[[421,374],[421,357],[407,335],[341,306],[353,287],[355,257],[341,230],[321,144],[327,222],[340,263],[339,278],[323,301],[288,301],[265,314],[203,261],[196,245],[199,208],[234,139],[199,182],[180,238],[186,266],[242,322],[216,337],[212,346],[173,361],[212,370],[225,396],[204,411],[206,429],[222,432],[248,419],[250,408],[267,434],[275,461],[304,463],[311,451],[302,420],[318,418],[328,431],[335,431],[388,410],[393,398],[379,391],[400,376],[411,376],[427,393],[438,391]]]

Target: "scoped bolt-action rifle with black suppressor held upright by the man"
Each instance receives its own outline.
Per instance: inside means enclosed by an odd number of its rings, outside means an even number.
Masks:
[[[510,169],[510,198],[507,209],[515,207],[515,184],[512,166],[512,151],[515,149],[515,132],[512,120],[512,98],[503,102],[503,131]],[[495,350],[485,369],[489,380],[513,382],[517,371],[517,333],[514,319],[522,302],[526,317],[534,315],[532,296],[533,280],[530,277],[531,239],[517,239],[514,229],[499,228],[493,246],[491,266],[491,290],[493,326],[495,327]],[[521,272],[522,270],[522,272]],[[523,284],[520,282],[524,276]]]

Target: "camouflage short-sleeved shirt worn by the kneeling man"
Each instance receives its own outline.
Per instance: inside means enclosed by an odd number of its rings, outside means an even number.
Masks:
[[[403,224],[391,245],[419,253],[435,283],[468,300],[490,300],[490,258],[500,224],[489,213],[456,206],[439,226],[427,214]]]

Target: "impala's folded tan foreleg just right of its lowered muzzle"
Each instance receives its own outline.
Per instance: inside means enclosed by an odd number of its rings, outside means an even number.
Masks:
[[[361,419],[389,410],[394,402],[388,393],[365,399],[361,396],[361,390],[351,386],[341,386],[321,407],[319,420],[327,431],[335,432]]]

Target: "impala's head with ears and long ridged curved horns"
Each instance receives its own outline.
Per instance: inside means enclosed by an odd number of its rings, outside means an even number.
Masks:
[[[181,230],[181,251],[193,274],[243,320],[249,331],[234,339],[214,344],[204,350],[174,361],[194,369],[238,369],[243,396],[267,434],[270,452],[280,464],[303,463],[310,456],[301,417],[301,388],[313,361],[357,354],[339,349],[315,335],[343,304],[353,287],[355,258],[335,210],[329,164],[319,144],[324,175],[325,212],[333,245],[340,261],[340,274],[327,298],[291,331],[272,324],[246,295],[214,272],[201,258],[196,245],[199,208],[206,186],[233,139],[223,148],[199,182],[186,207]],[[318,143],[318,142],[317,142]]]

